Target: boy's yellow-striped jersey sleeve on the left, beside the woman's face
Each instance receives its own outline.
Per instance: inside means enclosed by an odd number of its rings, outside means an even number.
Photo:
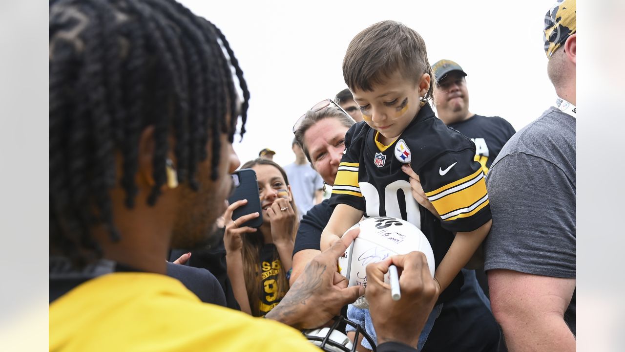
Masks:
[[[365,210],[364,198],[358,185],[358,172],[360,169],[359,160],[362,153],[362,141],[364,138],[356,138],[354,133],[360,130],[358,124],[353,125],[345,135],[345,152],[339,164],[339,170],[332,186],[332,196],[330,205],[336,207],[337,204],[347,204],[352,207]]]

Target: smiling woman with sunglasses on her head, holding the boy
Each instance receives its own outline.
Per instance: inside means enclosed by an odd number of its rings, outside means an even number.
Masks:
[[[339,163],[344,152],[344,140],[347,130],[354,125],[354,120],[342,110],[334,101],[326,99],[314,105],[311,110],[302,115],[293,127],[297,142],[301,145],[304,154],[326,184],[334,186],[334,179],[339,169]],[[419,176],[412,170],[408,173],[412,196],[432,215],[437,212],[419,182]],[[332,215],[329,200],[324,200],[309,210],[301,220],[293,251],[293,271],[291,283],[304,270],[306,264],[320,253],[321,232]],[[471,272],[463,271],[469,275]],[[474,274],[473,274],[474,275]],[[445,303],[441,314],[434,324],[430,336],[444,336],[445,338],[428,338],[423,352],[427,351],[490,351],[497,348],[499,329],[489,308],[482,303],[475,281],[466,280],[467,284],[461,287],[460,294],[451,302]],[[463,319],[457,319],[462,314]],[[467,335],[479,336],[477,344],[466,341]],[[360,348],[361,346],[359,346]]]

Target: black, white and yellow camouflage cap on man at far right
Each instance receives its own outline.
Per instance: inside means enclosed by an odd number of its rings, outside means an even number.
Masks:
[[[545,15],[543,39],[547,58],[577,29],[576,0],[558,0]]]

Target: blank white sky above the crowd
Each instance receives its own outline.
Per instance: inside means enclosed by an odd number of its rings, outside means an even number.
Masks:
[[[205,1],[182,0],[226,35],[251,94],[241,163],[262,148],[294,161],[294,122],[347,88],[341,64],[349,41],[385,19],[425,39],[430,64],[454,60],[468,74],[469,110],[506,118],[519,130],[556,99],[543,51],[544,15],[554,1]]]

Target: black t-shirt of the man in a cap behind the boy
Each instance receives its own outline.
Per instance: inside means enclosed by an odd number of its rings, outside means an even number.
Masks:
[[[475,143],[476,161],[487,173],[506,142],[516,133],[514,127],[499,116],[473,115],[468,120],[448,125]]]

